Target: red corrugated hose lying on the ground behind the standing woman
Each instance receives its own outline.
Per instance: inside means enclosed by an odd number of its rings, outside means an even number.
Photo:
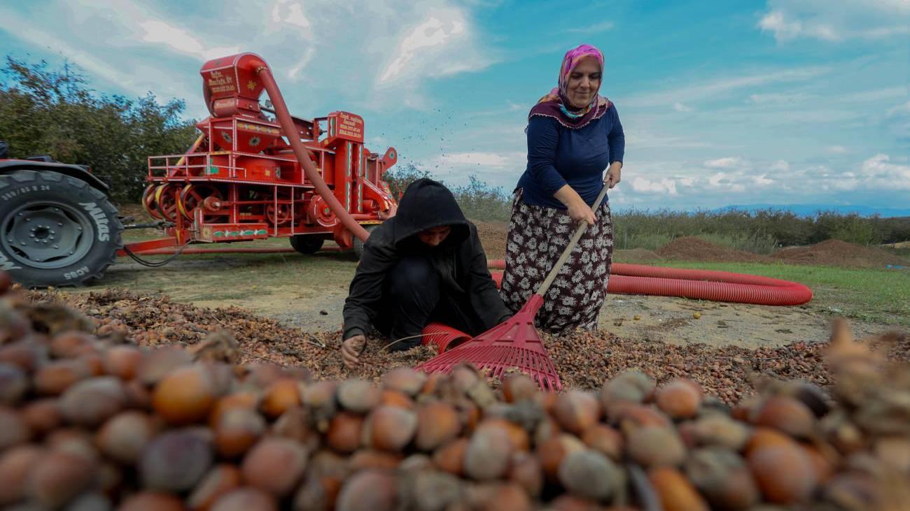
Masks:
[[[490,260],[490,268],[504,269],[505,261]],[[495,274],[498,275],[493,275],[493,279],[499,285],[502,274]],[[799,306],[812,299],[808,287],[766,276],[622,263],[613,264],[610,275],[608,293],[682,296],[761,306]]]

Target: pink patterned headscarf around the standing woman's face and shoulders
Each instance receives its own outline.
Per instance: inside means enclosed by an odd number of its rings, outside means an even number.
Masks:
[[[541,97],[537,105],[531,108],[531,113],[528,115],[529,120],[534,115],[544,115],[555,118],[561,125],[575,129],[588,125],[592,120],[601,118],[607,112],[610,100],[596,94],[596,92],[591,104],[581,110],[575,110],[569,103],[566,95],[569,86],[569,76],[575,66],[585,57],[597,59],[597,63],[601,66],[601,71],[603,71],[603,54],[601,50],[591,45],[579,45],[572,48],[562,57],[558,86],[553,87],[550,94]]]

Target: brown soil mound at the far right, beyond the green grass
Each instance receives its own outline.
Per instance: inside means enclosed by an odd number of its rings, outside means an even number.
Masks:
[[[884,268],[887,265],[910,266],[899,255],[888,254],[880,248],[856,245],[839,239],[829,239],[811,246],[784,248],[772,255],[785,263],[859,268]]]

